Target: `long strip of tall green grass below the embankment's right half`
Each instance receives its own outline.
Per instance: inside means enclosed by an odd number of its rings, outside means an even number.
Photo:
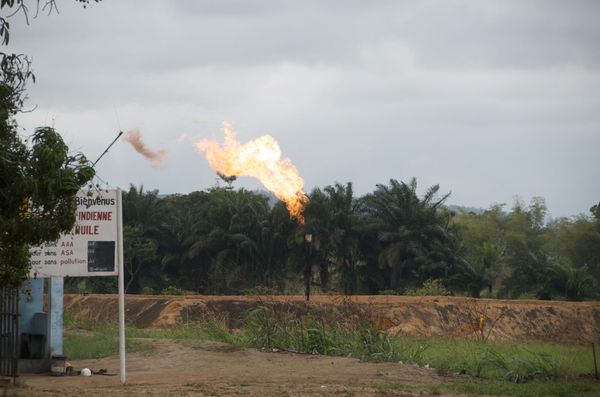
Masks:
[[[258,348],[394,361],[511,382],[572,380],[591,372],[592,356],[583,347],[542,343],[484,342],[469,339],[390,336],[365,313],[325,318],[260,306],[246,317],[241,339]]]

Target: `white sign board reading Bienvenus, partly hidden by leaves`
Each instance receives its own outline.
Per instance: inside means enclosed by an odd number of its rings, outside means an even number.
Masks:
[[[31,248],[30,277],[114,276],[119,274],[121,191],[77,193],[73,230],[58,241]]]

